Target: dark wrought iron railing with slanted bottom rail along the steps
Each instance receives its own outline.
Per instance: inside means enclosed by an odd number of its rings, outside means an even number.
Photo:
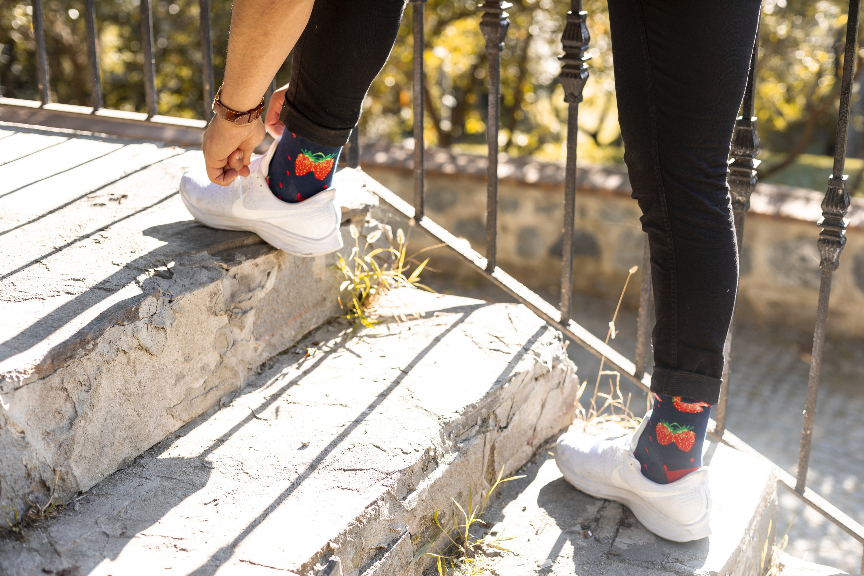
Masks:
[[[41,104],[50,103],[50,77],[45,51],[45,30],[41,0],[31,0],[33,4],[33,27],[36,41],[36,65]],[[203,95],[205,103],[213,100],[213,47],[210,28],[210,0],[200,2],[200,37],[203,78]],[[93,0],[84,0],[85,22],[87,34],[87,55],[89,60],[89,75],[92,85],[92,111],[103,109],[101,79],[99,73],[97,52],[97,27],[94,16]],[[603,340],[597,338],[575,320],[571,319],[571,287],[573,281],[573,256],[575,225],[575,194],[576,194],[576,134],[579,104],[582,100],[582,89],[588,80],[590,37],[586,19],[588,14],[581,9],[581,0],[571,0],[570,11],[567,14],[566,25],[562,34],[564,54],[559,81],[564,89],[564,100],[568,104],[567,130],[567,161],[564,179],[564,221],[562,224],[562,270],[561,270],[561,302],[556,309],[550,302],[544,301],[539,295],[526,288],[511,275],[497,265],[498,248],[498,154],[499,154],[499,103],[500,103],[500,53],[503,49],[505,36],[509,28],[506,9],[509,4],[502,0],[486,0],[479,6],[482,11],[480,30],[486,40],[488,55],[488,166],[486,182],[486,256],[467,246],[464,241],[437,225],[425,215],[424,193],[424,138],[423,138],[423,10],[425,0],[410,0],[413,18],[413,117],[414,117],[414,194],[413,206],[384,187],[374,190],[378,196],[400,213],[404,218],[427,231],[439,242],[447,244],[451,250],[462,256],[480,274],[497,284],[519,302],[529,307],[539,317],[563,332],[567,338],[584,346],[594,355],[605,358],[613,364],[622,375],[632,380],[646,391],[650,389],[651,376],[645,372],[645,361],[648,351],[649,314],[651,307],[651,254],[647,239],[643,251],[642,284],[639,293],[639,310],[637,323],[637,343],[635,361],[631,361],[618,351],[613,350]],[[823,218],[818,225],[822,228],[817,241],[821,256],[822,269],[819,286],[819,299],[816,307],[816,327],[813,335],[813,353],[810,359],[810,377],[807,388],[807,398],[804,405],[804,427],[801,433],[801,446],[797,464],[797,476],[793,477],[782,468],[774,465],[778,474],[778,483],[791,491],[804,503],[825,516],[830,522],[851,535],[864,545],[864,526],[853,518],[838,510],[834,505],[816,494],[806,485],[808,462],[810,459],[810,443],[816,417],[816,396],[819,390],[819,373],[823,359],[825,329],[828,321],[828,303],[831,291],[831,279],[840,264],[840,255],[846,242],[845,231],[848,220],[845,218],[850,206],[847,190],[847,176],[843,174],[846,159],[846,138],[849,123],[849,104],[853,91],[854,64],[858,46],[858,25],[861,0],[850,0],[844,60],[842,66],[842,85],[840,92],[839,118],[836,128],[834,168],[829,177],[828,190],[822,203]],[[156,74],[153,50],[153,22],[150,0],[141,0],[141,36],[144,57],[144,91],[147,116],[156,116]],[[417,49],[420,47],[420,49]],[[744,231],[745,215],[750,204],[750,196],[756,187],[756,168],[759,161],[755,159],[759,153],[759,135],[756,130],[756,117],[753,116],[753,90],[756,81],[756,66],[759,47],[754,47],[747,78],[746,92],[741,105],[742,115],[735,123],[734,136],[729,163],[729,190],[734,212],[735,237],[739,250]],[[275,80],[274,80],[275,82]],[[271,85],[270,90],[275,88]],[[0,104],[2,105],[2,104]],[[213,112],[205,105],[206,117],[212,117]],[[161,120],[161,123],[164,121]],[[353,130],[347,149],[349,168],[359,168],[359,136]],[[734,325],[733,325],[734,326]],[[743,452],[765,459],[765,457],[747,446],[742,440],[726,429],[727,396],[729,383],[729,366],[732,361],[734,330],[730,328],[726,341],[726,366],[723,373],[720,402],[715,408],[716,420],[709,424],[708,434],[715,440]],[[864,572],[864,558],[861,563]]]

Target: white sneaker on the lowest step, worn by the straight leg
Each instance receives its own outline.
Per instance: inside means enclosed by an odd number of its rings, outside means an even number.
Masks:
[[[689,542],[711,534],[708,466],[670,484],[657,484],[639,472],[633,450],[651,412],[632,434],[613,440],[581,432],[558,439],[555,461],[564,478],[596,498],[625,504],[645,528],[667,540]]]

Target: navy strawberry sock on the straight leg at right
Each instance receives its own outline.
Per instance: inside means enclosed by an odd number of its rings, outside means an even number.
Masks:
[[[645,478],[669,484],[702,466],[710,408],[706,402],[681,396],[654,395],[651,420],[633,453]]]

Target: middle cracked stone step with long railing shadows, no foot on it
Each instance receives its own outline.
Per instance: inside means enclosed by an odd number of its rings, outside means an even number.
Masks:
[[[0,541],[0,574],[408,573],[435,510],[569,424],[577,380],[525,307],[400,289],[378,313],[359,338],[311,332],[98,496]]]

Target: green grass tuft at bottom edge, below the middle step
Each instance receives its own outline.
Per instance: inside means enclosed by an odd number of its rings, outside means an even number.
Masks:
[[[504,548],[502,542],[512,540],[516,536],[504,536],[500,534],[483,535],[478,538],[474,536],[471,529],[474,524],[483,528],[489,528],[490,524],[484,522],[480,516],[486,511],[486,504],[489,502],[489,497],[492,492],[496,491],[501,484],[525,478],[523,476],[511,476],[510,478],[501,478],[504,475],[504,466],[501,467],[501,472],[495,480],[495,484],[483,496],[480,503],[473,502],[473,492],[468,488],[468,502],[465,508],[453,497],[450,499],[459,509],[461,518],[457,519],[455,512],[445,528],[444,524],[438,517],[440,510],[435,510],[433,522],[438,528],[435,535],[429,543],[417,552],[411,564],[414,564],[421,556],[431,556],[435,558],[436,567],[438,568],[438,576],[486,576],[490,573],[487,563],[487,558],[492,555],[500,554],[500,552],[509,552],[508,548]],[[448,544],[443,550],[435,545],[440,535],[446,535]],[[429,548],[434,548],[435,552],[429,552]]]

